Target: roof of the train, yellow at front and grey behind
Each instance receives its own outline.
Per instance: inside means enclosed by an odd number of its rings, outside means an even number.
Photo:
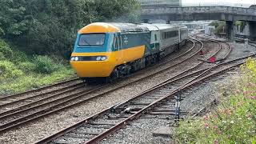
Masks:
[[[171,28],[180,28],[183,26],[171,24],[148,24],[148,23],[114,23],[114,22],[96,22],[83,27],[78,31],[80,34],[86,33],[114,33],[114,32],[143,32],[158,31]]]

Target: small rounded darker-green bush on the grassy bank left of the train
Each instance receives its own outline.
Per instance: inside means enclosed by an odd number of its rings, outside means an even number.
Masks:
[[[51,74],[60,67],[51,58],[47,56],[34,56],[35,70],[42,74]]]

